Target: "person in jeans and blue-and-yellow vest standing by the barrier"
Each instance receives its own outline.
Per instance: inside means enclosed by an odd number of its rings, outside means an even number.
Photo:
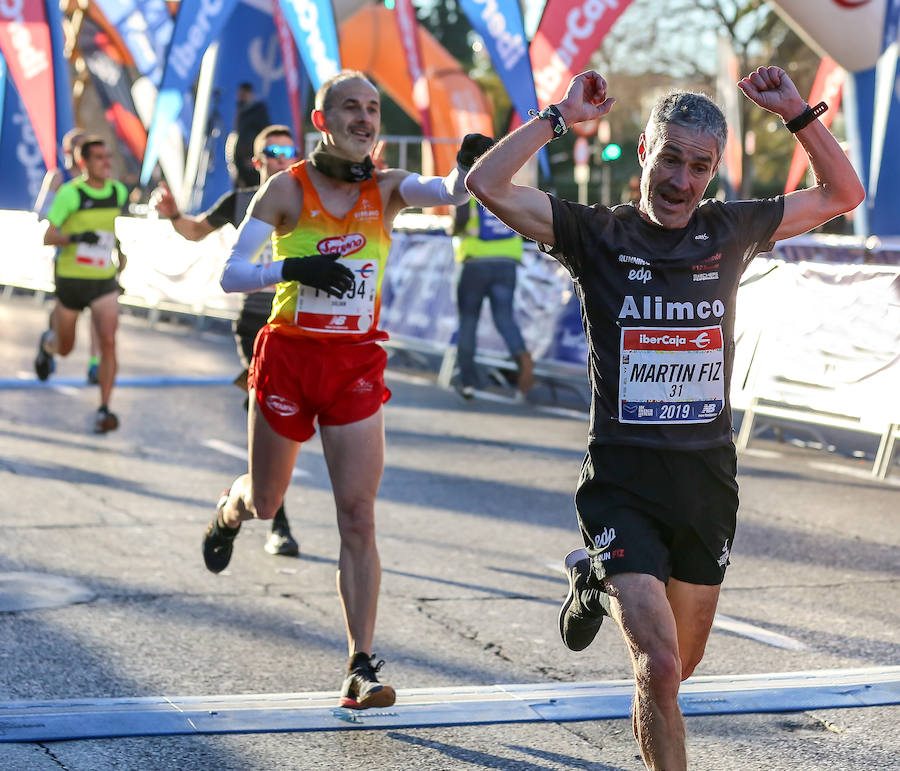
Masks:
[[[474,198],[457,207],[454,233],[454,255],[456,261],[462,263],[456,286],[459,392],[464,399],[471,399],[478,385],[476,337],[481,306],[487,297],[491,303],[494,326],[506,343],[509,355],[518,365],[517,385],[519,394],[524,397],[534,385],[534,362],[513,316],[516,271],[522,261],[522,238]]]

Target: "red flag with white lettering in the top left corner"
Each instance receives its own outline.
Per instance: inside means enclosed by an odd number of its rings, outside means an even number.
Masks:
[[[26,0],[0,3],[0,51],[34,127],[44,163],[48,169],[55,169],[53,46],[43,3]]]

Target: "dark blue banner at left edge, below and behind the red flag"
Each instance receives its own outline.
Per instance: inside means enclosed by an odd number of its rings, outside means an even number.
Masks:
[[[0,55],[0,209],[30,211],[47,167],[31,119]]]

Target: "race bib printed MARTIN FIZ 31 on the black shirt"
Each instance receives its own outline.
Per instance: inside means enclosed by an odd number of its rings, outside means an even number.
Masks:
[[[619,422],[709,423],[725,407],[722,328],[623,328]]]

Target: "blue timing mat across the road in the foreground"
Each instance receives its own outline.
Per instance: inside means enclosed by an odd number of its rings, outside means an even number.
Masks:
[[[336,706],[337,693],[7,702],[0,742],[607,720],[630,715],[632,688],[629,680],[420,688],[365,711]],[[685,715],[900,704],[900,667],[697,677],[679,701]]]

